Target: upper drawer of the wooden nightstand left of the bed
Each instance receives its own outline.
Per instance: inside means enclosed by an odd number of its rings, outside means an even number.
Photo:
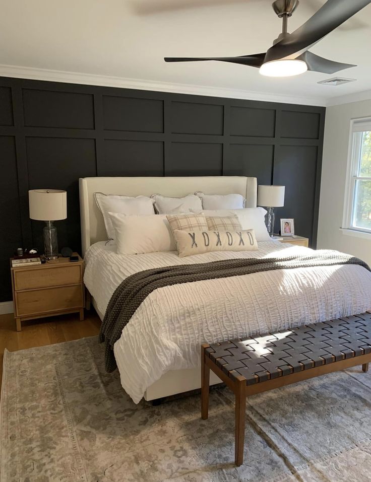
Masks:
[[[28,269],[31,268],[14,270],[14,289],[16,291],[81,283],[79,264],[32,269],[31,271],[27,271]]]

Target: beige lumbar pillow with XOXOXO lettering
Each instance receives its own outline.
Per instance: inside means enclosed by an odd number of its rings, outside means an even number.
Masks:
[[[173,231],[179,256],[212,251],[256,251],[258,243],[253,229],[240,231]]]

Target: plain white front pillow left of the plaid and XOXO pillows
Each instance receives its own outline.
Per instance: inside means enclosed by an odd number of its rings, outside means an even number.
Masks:
[[[142,254],[176,251],[174,236],[166,216],[108,214],[115,230],[117,253]]]

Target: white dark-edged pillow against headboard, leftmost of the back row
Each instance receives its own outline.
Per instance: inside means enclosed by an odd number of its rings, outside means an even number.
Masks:
[[[114,229],[108,213],[120,213],[127,216],[145,216],[155,214],[153,200],[147,196],[128,197],[119,194],[94,192],[94,199],[103,215],[108,239],[114,239]]]

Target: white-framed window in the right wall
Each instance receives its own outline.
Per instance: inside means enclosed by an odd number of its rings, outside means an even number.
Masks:
[[[371,234],[371,118],[351,122],[343,226]]]

